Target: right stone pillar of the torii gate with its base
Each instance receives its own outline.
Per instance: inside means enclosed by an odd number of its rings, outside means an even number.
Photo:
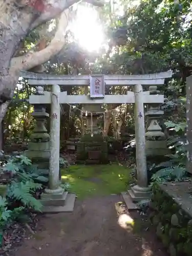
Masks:
[[[143,88],[137,84],[134,89],[137,185],[129,190],[129,194],[133,202],[139,202],[151,197],[151,188],[147,185]]]

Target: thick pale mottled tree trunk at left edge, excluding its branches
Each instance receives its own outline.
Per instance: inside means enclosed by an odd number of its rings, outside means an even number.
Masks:
[[[0,10],[0,104],[11,98],[11,91],[15,88],[19,70],[10,70],[11,59],[20,41],[24,39],[31,24],[39,16],[30,7],[7,7],[7,11]]]

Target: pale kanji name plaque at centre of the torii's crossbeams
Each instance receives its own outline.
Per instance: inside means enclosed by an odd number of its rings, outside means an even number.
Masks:
[[[90,76],[90,97],[104,98],[104,75]]]

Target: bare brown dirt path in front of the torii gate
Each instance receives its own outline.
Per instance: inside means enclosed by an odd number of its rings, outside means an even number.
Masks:
[[[15,256],[166,256],[153,230],[133,234],[117,223],[119,196],[76,201],[73,213],[47,215],[41,230],[25,240]],[[131,212],[134,219],[140,215]],[[137,221],[136,221],[137,223]]]

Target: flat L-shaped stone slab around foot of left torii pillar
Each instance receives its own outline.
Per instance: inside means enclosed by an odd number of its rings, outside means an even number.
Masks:
[[[68,194],[64,206],[44,206],[41,211],[43,213],[56,214],[58,212],[72,212],[75,204],[75,194]]]

